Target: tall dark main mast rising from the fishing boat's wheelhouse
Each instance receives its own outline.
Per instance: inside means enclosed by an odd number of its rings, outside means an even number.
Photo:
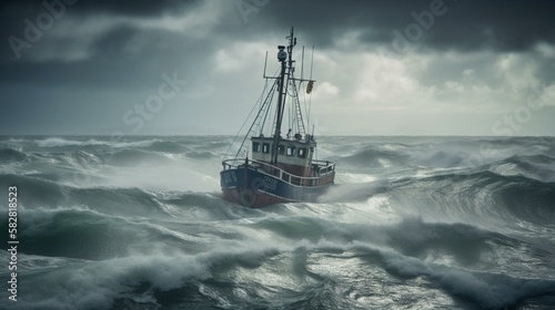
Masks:
[[[293,27],[291,28],[291,33],[287,37],[289,45],[287,52],[284,51],[285,46],[279,45],[278,49],[278,61],[281,62],[281,73],[280,73],[280,85],[279,85],[279,94],[278,94],[278,111],[275,114],[275,131],[274,131],[274,143],[272,147],[272,164],[275,165],[278,163],[278,144],[281,138],[281,125],[283,122],[283,112],[285,110],[285,97],[284,93],[287,91],[289,78],[291,76],[291,71],[293,69],[293,46],[296,44],[296,38],[293,37]],[[287,60],[289,55],[289,61]],[[285,81],[285,75],[287,80]]]

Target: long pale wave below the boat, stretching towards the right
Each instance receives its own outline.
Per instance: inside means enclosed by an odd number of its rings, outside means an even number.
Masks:
[[[254,219],[249,228],[280,244],[305,240],[319,244],[323,240],[333,245],[354,242],[372,244],[395,250],[404,256],[431,260],[436,257],[453,257],[460,266],[487,270],[487,255],[494,255],[491,242],[498,236],[471,225],[426,223],[418,217],[403,218],[396,224],[345,224],[332,219],[307,216],[265,217]],[[505,242],[507,242],[505,240]]]

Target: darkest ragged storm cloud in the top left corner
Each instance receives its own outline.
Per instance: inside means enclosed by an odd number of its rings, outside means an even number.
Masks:
[[[190,0],[190,1],[88,1],[88,0],[44,0],[44,1],[3,1],[0,4],[0,38],[2,38],[2,44],[0,44],[0,62],[6,63],[14,60],[22,59],[23,61],[29,61],[29,58],[22,58],[26,53],[29,53],[29,49],[33,45],[43,44],[42,41],[48,41],[52,39],[51,34],[57,31],[65,32],[65,37],[69,37],[73,41],[75,39],[80,41],[91,40],[83,35],[82,38],[71,38],[73,29],[61,29],[64,25],[64,19],[71,17],[74,20],[87,22],[91,18],[98,18],[98,27],[101,28],[102,23],[109,21],[110,18],[122,19],[122,18],[135,18],[135,19],[153,19],[159,18],[163,14],[171,14],[180,11],[193,11],[202,3],[201,0]],[[43,17],[41,19],[41,17]],[[50,19],[50,20],[49,20]],[[51,23],[50,23],[51,22]],[[40,23],[47,24],[47,29],[40,27]],[[82,24],[77,23],[77,27]],[[102,35],[97,35],[94,40],[110,44],[97,45],[95,52],[105,52],[110,54],[113,52],[114,44],[112,43],[124,43],[124,40],[143,31],[139,27],[134,25],[132,28],[125,29],[127,25],[113,25],[117,28]],[[122,29],[118,29],[122,28]],[[118,38],[113,32],[119,32]],[[127,31],[127,33],[125,33]],[[36,33],[39,35],[36,35]],[[33,40],[29,40],[27,35],[38,37],[37,43]],[[88,33],[89,35],[94,35],[95,33]],[[103,35],[110,35],[110,38],[103,38]],[[11,39],[10,39],[11,38]],[[16,38],[16,39],[13,39]],[[123,40],[119,40],[119,39]],[[57,44],[64,44],[68,42],[68,38],[58,35]],[[115,39],[110,42],[110,39]],[[10,41],[11,40],[11,41]],[[17,40],[17,41],[16,41]],[[64,42],[65,40],[65,42]],[[26,45],[21,48],[22,45]],[[123,45],[123,44],[120,44]],[[16,46],[16,48],[14,48]],[[62,49],[63,46],[60,46]],[[105,49],[105,51],[103,51]]]

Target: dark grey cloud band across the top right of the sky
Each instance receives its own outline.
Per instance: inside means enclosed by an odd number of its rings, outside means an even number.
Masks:
[[[440,11],[440,14],[434,14]],[[555,2],[553,1],[468,1],[468,0],[414,0],[414,1],[271,1],[271,12],[262,12],[256,22],[266,22],[271,28],[294,24],[299,35],[314,42],[320,49],[351,50],[342,46],[341,39],[350,32],[359,32],[359,43],[365,51],[384,46],[390,54],[396,48],[420,49],[424,53],[458,51],[463,53],[491,51],[531,52],[543,63],[537,72],[545,83],[555,80],[553,56],[538,55],[541,43],[555,44]],[[268,13],[268,14],[266,14]],[[417,25],[417,27],[414,27]],[[425,29],[427,28],[427,29]],[[415,31],[416,30],[416,31]],[[421,32],[417,32],[417,31]],[[408,34],[407,34],[408,31]],[[402,38],[400,38],[400,34]],[[416,39],[410,35],[417,37]],[[405,54],[402,50],[401,55]],[[462,60],[463,61],[463,60]],[[488,73],[490,60],[477,60],[475,70],[484,81],[497,83]],[[452,64],[452,63],[451,63]],[[424,83],[462,70],[441,68],[433,63],[426,72]],[[460,66],[468,66],[468,63]],[[433,79],[432,79],[433,78]],[[490,79],[491,78],[491,79]]]

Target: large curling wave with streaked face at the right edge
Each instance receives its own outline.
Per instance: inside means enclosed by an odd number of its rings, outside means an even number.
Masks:
[[[431,218],[472,220],[486,227],[555,220],[555,183],[521,175],[477,170],[404,178],[392,182],[389,193],[400,211],[405,208]]]

